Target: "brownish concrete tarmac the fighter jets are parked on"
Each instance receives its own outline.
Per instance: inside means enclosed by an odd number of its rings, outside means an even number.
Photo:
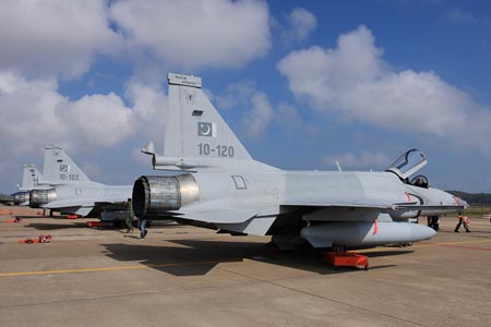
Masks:
[[[89,219],[0,206],[0,326],[489,326],[491,223],[335,270],[270,238],[154,225],[145,240]],[[19,216],[20,222],[4,222]],[[52,237],[49,244],[20,239]]]

